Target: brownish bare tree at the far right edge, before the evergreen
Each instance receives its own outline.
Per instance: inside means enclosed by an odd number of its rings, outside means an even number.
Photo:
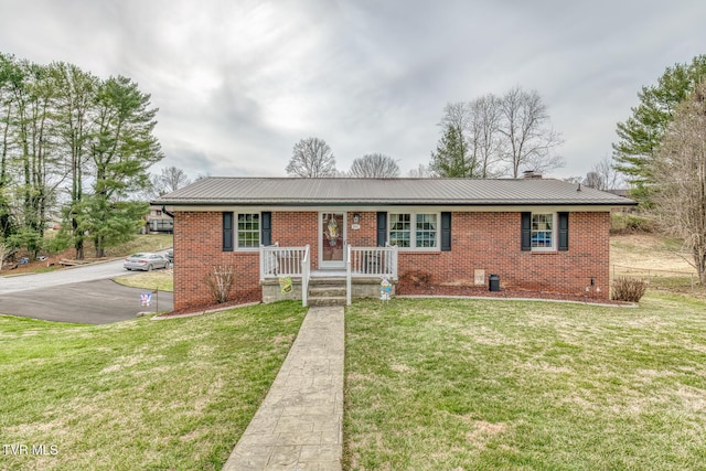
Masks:
[[[660,226],[684,240],[706,285],[706,83],[680,105],[652,161]]]

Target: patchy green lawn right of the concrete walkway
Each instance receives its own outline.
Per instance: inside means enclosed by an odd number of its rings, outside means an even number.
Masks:
[[[668,293],[356,302],[344,469],[704,469],[704,312]]]

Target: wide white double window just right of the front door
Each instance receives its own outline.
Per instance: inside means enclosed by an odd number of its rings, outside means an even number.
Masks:
[[[437,213],[391,213],[389,244],[400,248],[438,249]]]

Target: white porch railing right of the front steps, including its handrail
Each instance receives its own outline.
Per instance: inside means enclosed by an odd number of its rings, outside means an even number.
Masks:
[[[345,264],[345,303],[351,306],[352,279],[379,277],[397,279],[397,246],[351,247],[347,246]]]

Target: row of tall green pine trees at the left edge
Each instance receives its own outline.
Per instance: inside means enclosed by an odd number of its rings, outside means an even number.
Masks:
[[[163,158],[150,95],[124,76],[0,54],[0,244],[95,255],[137,233]],[[51,242],[50,222],[61,221]]]

